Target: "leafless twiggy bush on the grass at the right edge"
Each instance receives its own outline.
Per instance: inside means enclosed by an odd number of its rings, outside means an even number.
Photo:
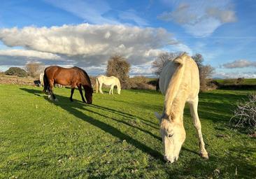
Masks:
[[[234,127],[248,127],[256,129],[256,94],[249,94],[248,101],[237,104],[230,121]]]

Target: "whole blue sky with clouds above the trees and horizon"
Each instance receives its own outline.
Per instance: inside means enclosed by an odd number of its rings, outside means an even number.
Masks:
[[[118,53],[131,76],[153,76],[162,52],[203,55],[213,78],[256,78],[256,1],[1,1],[0,71],[41,62],[97,76]]]

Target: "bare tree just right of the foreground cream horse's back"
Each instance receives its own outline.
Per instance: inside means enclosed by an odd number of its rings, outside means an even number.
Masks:
[[[199,69],[200,89],[205,91],[207,89],[207,79],[213,74],[214,68],[211,65],[204,65],[204,57],[199,53],[192,56],[192,59],[197,63]]]

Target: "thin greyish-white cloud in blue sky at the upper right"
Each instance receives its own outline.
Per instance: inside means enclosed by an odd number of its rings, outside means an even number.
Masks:
[[[236,15],[229,0],[179,2],[178,6],[173,2],[174,10],[164,12],[158,18],[180,24],[193,36],[210,36],[222,24],[236,21]]]

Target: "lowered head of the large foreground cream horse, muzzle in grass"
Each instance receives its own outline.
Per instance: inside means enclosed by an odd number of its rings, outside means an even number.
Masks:
[[[155,113],[160,122],[160,134],[164,145],[164,159],[167,162],[176,162],[181,146],[185,141],[185,129],[180,122],[174,122],[170,116],[161,116]]]

